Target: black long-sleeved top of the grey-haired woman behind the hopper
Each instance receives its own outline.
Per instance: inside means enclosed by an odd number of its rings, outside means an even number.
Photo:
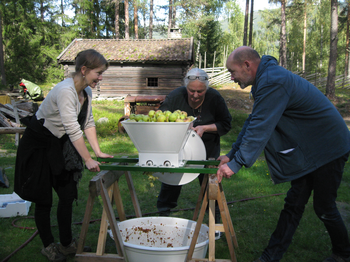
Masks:
[[[186,87],[181,86],[170,92],[159,107],[162,111],[181,110],[186,111],[188,116],[197,117],[193,127],[198,125],[215,124],[217,133],[204,132],[202,140],[208,158],[218,158],[220,155],[220,137],[227,134],[231,129],[232,117],[225,100],[220,93],[209,87],[204,96],[204,101],[198,109],[193,109],[188,104]]]

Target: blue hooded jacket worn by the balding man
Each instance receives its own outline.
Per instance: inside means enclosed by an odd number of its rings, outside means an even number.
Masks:
[[[297,179],[350,151],[342,116],[314,85],[262,56],[252,86],[254,105],[227,154],[237,173],[251,167],[262,150],[272,181]]]

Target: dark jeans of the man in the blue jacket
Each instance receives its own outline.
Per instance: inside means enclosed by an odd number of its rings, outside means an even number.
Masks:
[[[341,257],[350,256],[348,231],[335,203],[347,160],[348,154],[290,183],[284,209],[281,211],[276,230],[261,255],[262,260],[278,262],[282,259],[292,242],[312,190],[314,211],[329,233],[332,252]]]

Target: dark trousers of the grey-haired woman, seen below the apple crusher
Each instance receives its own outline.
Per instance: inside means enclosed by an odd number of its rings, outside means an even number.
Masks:
[[[200,185],[202,185],[203,179],[204,179],[204,174],[199,174],[198,180]],[[168,185],[168,184],[162,183],[159,196],[157,199],[157,208],[159,210],[160,216],[168,217],[170,214],[170,209],[175,208],[177,206],[177,199],[179,199],[181,188],[182,188],[182,185]],[[219,209],[218,202],[215,201],[215,224],[219,224],[219,223],[220,223],[220,209]]]

